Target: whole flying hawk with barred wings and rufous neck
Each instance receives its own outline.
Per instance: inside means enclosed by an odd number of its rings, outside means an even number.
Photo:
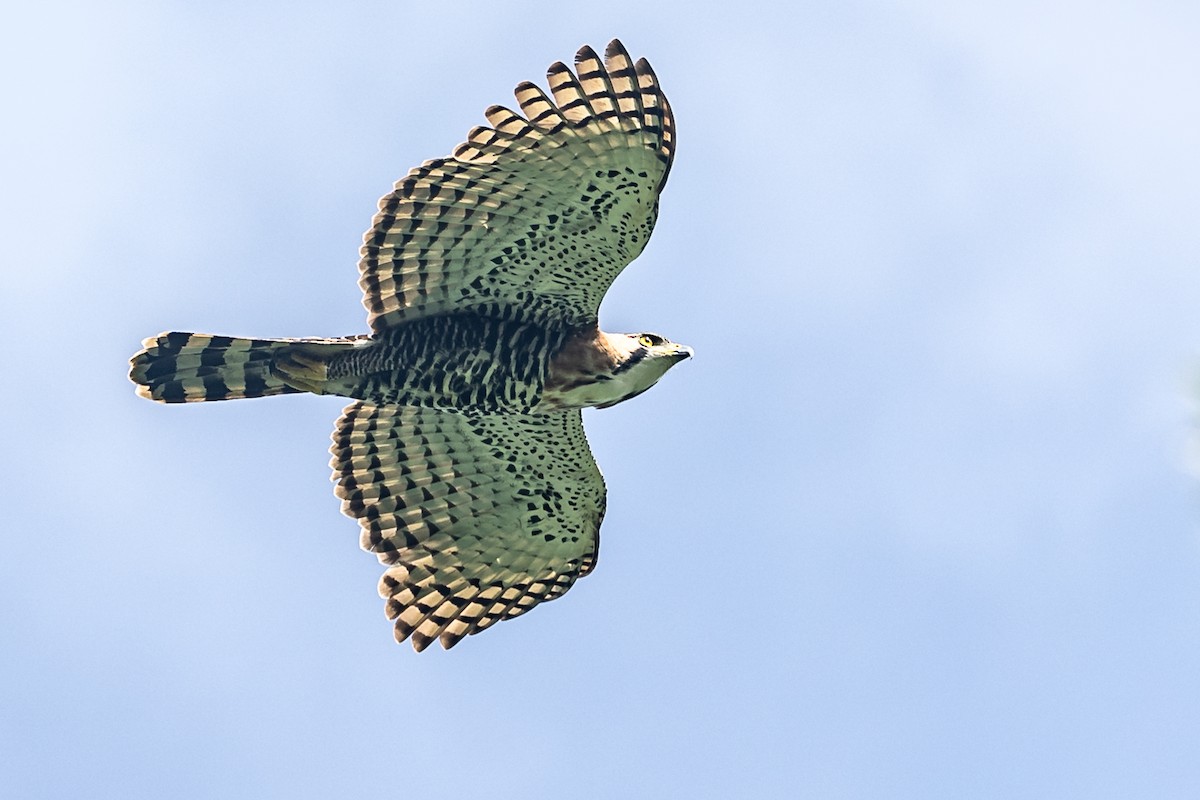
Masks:
[[[359,285],[370,333],[167,332],[131,361],[162,403],[294,392],[353,398],[331,467],[397,642],[424,650],[562,596],[595,566],[605,485],[581,409],[653,386],[691,349],[606,333],[610,284],[642,252],[674,152],[646,59],[583,47],[550,94],[486,112],[446,158],[379,201]]]

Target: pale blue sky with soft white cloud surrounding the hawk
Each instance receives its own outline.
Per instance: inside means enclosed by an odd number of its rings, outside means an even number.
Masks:
[[[36,8],[35,8],[36,6]],[[338,398],[161,330],[366,330],[377,198],[578,46],[679,149],[566,597],[415,655]],[[41,2],[0,31],[12,798],[1200,796],[1200,6]]]

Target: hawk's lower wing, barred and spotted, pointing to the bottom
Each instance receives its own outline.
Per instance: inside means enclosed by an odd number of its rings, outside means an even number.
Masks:
[[[331,452],[342,511],[389,565],[379,594],[396,640],[416,650],[523,614],[595,565],[605,487],[578,410],[354,403]]]

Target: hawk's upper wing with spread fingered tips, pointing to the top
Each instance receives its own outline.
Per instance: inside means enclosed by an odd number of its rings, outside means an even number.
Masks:
[[[372,330],[449,311],[570,325],[595,321],[650,236],[674,122],[646,59],[613,40],[551,96],[516,88],[523,116],[487,109],[454,156],[427,161],[379,201],[359,261]]]

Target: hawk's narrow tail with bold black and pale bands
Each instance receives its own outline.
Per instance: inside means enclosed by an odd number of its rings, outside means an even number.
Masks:
[[[160,403],[325,393],[325,362],[368,338],[247,339],[160,333],[130,360],[137,392]]]

